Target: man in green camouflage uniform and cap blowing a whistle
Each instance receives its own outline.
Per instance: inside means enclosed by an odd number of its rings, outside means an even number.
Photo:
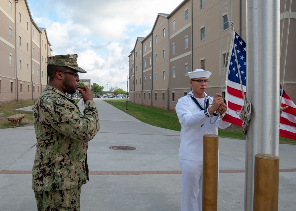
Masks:
[[[33,106],[37,149],[32,187],[38,211],[80,210],[81,186],[88,178],[87,146],[100,128],[92,91],[78,88],[77,54],[48,57],[49,83]],[[83,115],[68,94],[81,93]]]

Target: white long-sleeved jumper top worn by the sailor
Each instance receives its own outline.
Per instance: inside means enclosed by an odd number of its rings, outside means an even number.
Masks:
[[[218,118],[214,124],[211,124],[208,108],[201,110],[191,96],[196,98],[191,91],[186,96],[180,98],[176,105],[176,112],[182,126],[179,158],[202,161],[203,135],[218,135],[218,127],[225,129],[231,125],[231,123]],[[196,98],[199,103],[201,101],[203,102],[200,103],[202,108],[205,108],[207,99],[209,99],[209,107],[211,107],[213,98],[206,93],[203,99]],[[216,116],[213,116],[212,122],[214,122],[216,118]]]

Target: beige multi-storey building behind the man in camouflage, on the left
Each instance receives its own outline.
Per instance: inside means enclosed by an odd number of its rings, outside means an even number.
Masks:
[[[27,0],[0,1],[0,102],[37,99],[47,84],[51,44]]]

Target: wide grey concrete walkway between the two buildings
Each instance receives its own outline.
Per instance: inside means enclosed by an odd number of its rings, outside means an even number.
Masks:
[[[180,132],[144,124],[94,98],[101,129],[89,142],[81,211],[180,210]],[[78,103],[81,106],[81,103]],[[83,108],[81,108],[83,111]],[[36,210],[33,126],[0,130],[0,210]],[[136,150],[113,150],[128,146]],[[244,210],[245,141],[219,138],[218,210]],[[279,145],[279,210],[296,210],[295,145]]]

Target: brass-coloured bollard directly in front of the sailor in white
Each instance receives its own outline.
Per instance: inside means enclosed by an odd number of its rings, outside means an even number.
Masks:
[[[218,143],[214,134],[203,136],[202,210],[217,211],[218,200]]]

